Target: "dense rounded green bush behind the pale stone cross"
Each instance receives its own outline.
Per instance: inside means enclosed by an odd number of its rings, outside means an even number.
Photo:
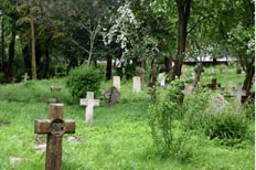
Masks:
[[[77,67],[71,71],[66,85],[71,88],[73,97],[86,97],[87,92],[94,92],[95,96],[99,94],[102,74],[98,70],[92,67]]]

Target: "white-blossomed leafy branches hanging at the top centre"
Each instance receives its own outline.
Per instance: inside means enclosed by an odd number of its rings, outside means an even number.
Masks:
[[[130,2],[126,2],[117,10],[117,17],[110,29],[105,29],[106,45],[116,43],[122,50],[120,60],[134,57],[150,57],[158,53],[157,40],[148,34],[143,21],[136,18]]]

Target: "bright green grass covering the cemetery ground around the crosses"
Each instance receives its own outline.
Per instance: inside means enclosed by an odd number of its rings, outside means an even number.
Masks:
[[[206,82],[209,77],[202,78]],[[223,79],[226,82],[224,75]],[[243,79],[238,77],[235,82],[238,81]],[[63,91],[51,94],[51,85],[61,86]],[[110,85],[111,82],[103,83],[102,91]],[[86,125],[85,108],[71,97],[65,79],[1,85],[0,123],[10,121],[10,125],[0,125],[0,170],[44,169],[45,153],[33,149],[34,120],[47,117],[49,104],[41,99],[42,96],[60,97],[64,103],[64,118],[76,121],[76,132],[64,136],[63,170],[254,169],[254,141],[245,141],[241,148],[228,148],[216,145],[202,134],[194,134],[188,141],[186,149],[191,157],[186,160],[161,159],[148,124],[150,96],[147,87],[134,94],[131,82],[126,81],[120,93],[120,102],[114,107],[100,100],[100,106],[95,107],[93,125]],[[249,128],[253,134],[254,123]],[[66,139],[70,136],[81,140],[68,142]],[[11,163],[10,157],[24,160]]]

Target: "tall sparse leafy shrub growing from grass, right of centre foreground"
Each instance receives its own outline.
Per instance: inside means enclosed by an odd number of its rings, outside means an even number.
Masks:
[[[148,109],[154,145],[164,158],[168,156],[182,157],[184,153],[188,135],[184,126],[177,120],[182,113],[180,103],[182,88],[183,83],[180,79],[171,82],[167,89],[157,94],[157,102]]]

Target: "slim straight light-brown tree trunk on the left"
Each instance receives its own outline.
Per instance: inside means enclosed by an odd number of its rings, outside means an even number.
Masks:
[[[30,19],[31,29],[31,66],[32,66],[32,79],[36,79],[36,62],[35,62],[35,38],[34,38],[34,21],[31,15]]]

